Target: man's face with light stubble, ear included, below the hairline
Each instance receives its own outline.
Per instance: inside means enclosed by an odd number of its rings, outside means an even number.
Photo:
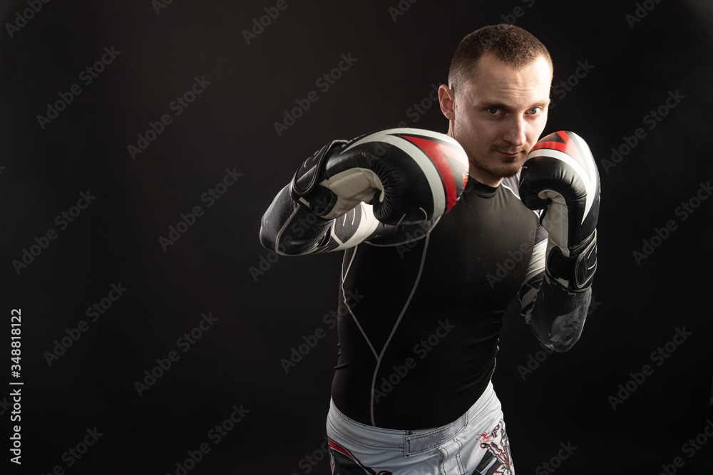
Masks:
[[[490,54],[476,68],[458,90],[441,86],[441,108],[451,120],[448,135],[466,150],[471,176],[497,186],[520,170],[545,128],[552,70],[542,57],[517,69]],[[450,104],[443,101],[449,92]]]

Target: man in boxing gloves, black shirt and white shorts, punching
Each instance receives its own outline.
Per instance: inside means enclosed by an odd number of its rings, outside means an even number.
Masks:
[[[474,31],[439,89],[447,136],[396,129],[331,142],[263,216],[268,249],[345,250],[333,474],[514,474],[491,383],[503,313],[519,296],[533,333],[568,350],[596,268],[588,147],[567,132],[535,146],[552,74],[522,28]]]

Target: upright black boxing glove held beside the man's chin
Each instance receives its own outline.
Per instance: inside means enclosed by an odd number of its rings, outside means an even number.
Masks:
[[[568,131],[537,142],[520,173],[520,199],[529,209],[544,209],[550,280],[568,291],[590,288],[597,270],[600,183],[587,142]]]

